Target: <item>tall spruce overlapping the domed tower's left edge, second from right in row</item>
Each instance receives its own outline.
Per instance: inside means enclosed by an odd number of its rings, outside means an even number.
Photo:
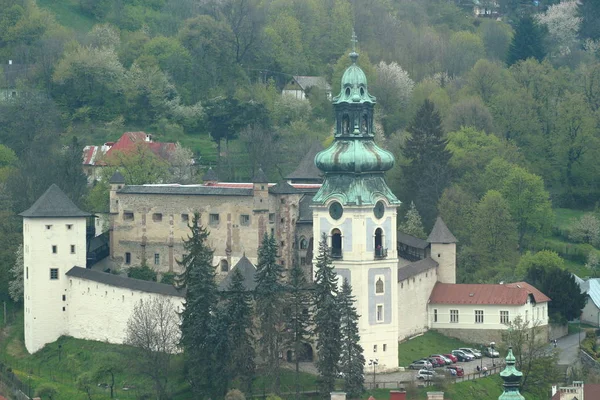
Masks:
[[[333,270],[327,236],[321,236],[319,254],[315,264],[315,334],[317,336],[317,369],[319,386],[324,394],[335,388],[340,360],[340,310],[337,304],[337,274]]]

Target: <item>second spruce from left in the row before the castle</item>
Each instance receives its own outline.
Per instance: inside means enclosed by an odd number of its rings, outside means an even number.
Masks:
[[[250,393],[256,370],[252,340],[252,298],[244,287],[244,277],[239,269],[233,270],[227,288],[225,315],[229,318],[229,375],[240,378],[245,393]]]

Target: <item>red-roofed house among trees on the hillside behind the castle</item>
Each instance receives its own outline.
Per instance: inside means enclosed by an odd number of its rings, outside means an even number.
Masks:
[[[101,170],[106,167],[106,160],[117,152],[127,153],[136,146],[143,145],[158,157],[168,160],[175,151],[175,143],[155,142],[152,135],[146,132],[125,132],[116,142],[106,142],[102,146],[85,146],[83,148],[83,171],[88,182],[101,178]]]

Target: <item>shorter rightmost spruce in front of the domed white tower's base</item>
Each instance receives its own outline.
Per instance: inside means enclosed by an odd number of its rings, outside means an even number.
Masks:
[[[344,376],[344,391],[350,398],[358,398],[365,383],[365,357],[363,348],[359,344],[359,315],[354,307],[354,301],[352,286],[347,279],[344,279],[342,291],[338,296],[341,336],[340,372]]]

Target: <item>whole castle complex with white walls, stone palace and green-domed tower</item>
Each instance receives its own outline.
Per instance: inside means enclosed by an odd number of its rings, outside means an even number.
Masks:
[[[526,283],[456,284],[456,238],[441,218],[427,240],[397,231],[401,202],[384,178],[394,158],[374,142],[375,97],[358,54],[350,57],[333,99],[333,144],[313,149],[286,181],[269,183],[259,170],[250,183],[219,182],[209,170],[201,185],[125,185],[115,173],[110,261],[179,272],[188,222],[198,212],[210,231],[219,279],[243,269],[251,290],[265,233],[276,237],[284,267],[298,262],[311,275],[313,248],[324,233],[337,274],[353,286],[365,358],[378,359],[382,370],[398,367],[399,341],[429,328],[486,343],[499,340],[517,315],[547,325],[550,299]],[[181,294],[171,286],[85,268],[90,215],[58,187],[21,215],[28,351],[61,335],[122,343],[141,299],[168,296],[181,307]]]

